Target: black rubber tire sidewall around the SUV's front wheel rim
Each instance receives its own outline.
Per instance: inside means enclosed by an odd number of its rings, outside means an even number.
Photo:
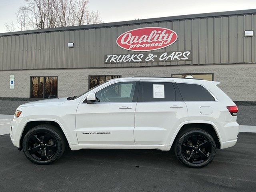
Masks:
[[[34,135],[36,133],[40,133],[40,132],[48,133],[52,137],[54,137],[54,142],[56,142],[56,146],[57,146],[57,150],[56,150],[55,154],[50,159],[45,160],[45,161],[35,159],[28,152],[28,141],[29,141],[30,137],[32,135]],[[22,148],[23,148],[23,152],[24,152],[26,158],[28,158],[28,160],[30,160],[31,162],[33,162],[35,164],[51,164],[51,163],[55,162],[56,160],[58,160],[58,158],[60,158],[60,156],[62,156],[62,154],[65,150],[65,140],[64,140],[61,132],[54,126],[40,125],[40,126],[36,126],[36,127],[32,128],[31,130],[29,130],[26,133],[26,135],[24,136],[23,142],[22,142]]]

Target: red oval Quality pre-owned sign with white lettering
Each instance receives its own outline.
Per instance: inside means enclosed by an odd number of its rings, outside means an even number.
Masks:
[[[127,31],[116,39],[118,46],[132,51],[151,51],[167,47],[178,38],[176,32],[161,27]]]

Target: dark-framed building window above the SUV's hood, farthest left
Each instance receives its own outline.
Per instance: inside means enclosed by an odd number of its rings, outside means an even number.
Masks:
[[[58,77],[30,77],[30,98],[58,98]]]

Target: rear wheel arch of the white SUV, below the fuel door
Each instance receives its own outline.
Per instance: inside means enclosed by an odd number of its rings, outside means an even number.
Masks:
[[[208,132],[212,138],[215,141],[216,144],[216,148],[219,149],[222,139],[220,138],[220,134],[218,132],[218,130],[216,129],[216,126],[210,124],[209,122],[205,122],[205,123],[188,123],[188,124],[184,124],[183,126],[180,127],[179,130],[176,130],[170,145],[174,146],[176,139],[178,138],[178,136],[180,136],[181,134],[184,134],[184,132],[186,132],[186,130],[189,130],[190,128],[200,128],[206,132]]]

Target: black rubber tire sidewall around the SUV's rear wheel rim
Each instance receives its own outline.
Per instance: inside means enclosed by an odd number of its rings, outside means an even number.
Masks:
[[[204,138],[206,138],[206,140],[208,140],[211,144],[211,152],[209,157],[207,158],[207,160],[205,160],[202,163],[191,163],[189,162],[185,157],[184,154],[182,152],[182,145],[184,143],[184,141],[193,136],[193,135],[198,135],[198,136],[203,136]],[[177,144],[176,144],[176,148],[175,148],[175,154],[178,157],[178,159],[180,160],[180,162],[182,162],[183,164],[185,164],[186,166],[190,167],[190,168],[201,168],[204,167],[208,164],[210,164],[210,162],[212,162],[214,156],[216,153],[216,144],[214,142],[214,139],[212,138],[212,136],[210,134],[208,134],[208,132],[204,131],[204,130],[190,130],[186,133],[184,133],[178,140],[177,140]]]

